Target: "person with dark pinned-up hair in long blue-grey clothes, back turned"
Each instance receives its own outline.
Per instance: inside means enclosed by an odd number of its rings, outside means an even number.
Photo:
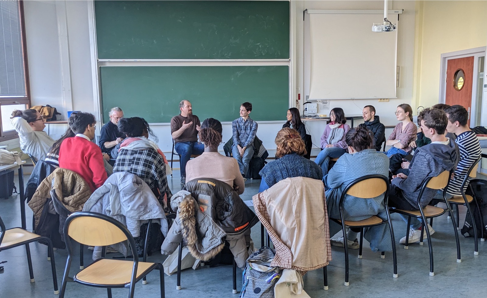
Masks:
[[[358,127],[349,130],[345,134],[348,153],[343,154],[330,169],[327,175],[323,177],[325,183],[325,197],[330,218],[340,218],[339,203],[340,197],[352,181],[365,175],[383,175],[388,177],[389,158],[373,147],[373,138],[369,130],[365,127]],[[370,218],[372,215],[379,215],[382,219],[387,219],[384,194],[370,199],[356,198],[346,195],[343,201],[343,212],[345,220],[360,221]],[[375,250],[379,245],[380,250],[391,250],[391,239],[383,239],[386,224],[371,227],[364,234],[365,239],[371,242],[371,248]],[[341,226],[330,221],[330,236],[335,235]],[[350,230],[347,233],[347,244],[349,248],[357,249],[359,247],[356,239],[356,231]],[[343,247],[343,236],[332,239],[331,244]],[[385,245],[382,246],[382,245]]]

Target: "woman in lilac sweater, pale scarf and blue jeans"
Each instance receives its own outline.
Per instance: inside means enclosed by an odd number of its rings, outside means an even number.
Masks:
[[[315,163],[323,170],[323,176],[328,174],[330,158],[338,158],[347,152],[345,134],[350,126],[345,119],[345,113],[341,108],[334,108],[330,112],[330,123],[326,125],[321,135],[321,152],[315,159]]]

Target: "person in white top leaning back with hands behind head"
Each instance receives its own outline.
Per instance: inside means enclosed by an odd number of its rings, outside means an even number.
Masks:
[[[55,141],[44,131],[42,115],[34,109],[14,110],[10,119],[19,133],[20,149],[36,162],[44,160]]]

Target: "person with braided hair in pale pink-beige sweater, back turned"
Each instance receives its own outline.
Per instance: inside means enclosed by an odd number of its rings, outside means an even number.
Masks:
[[[233,186],[238,194],[244,193],[244,177],[237,160],[218,152],[218,146],[222,143],[222,123],[214,118],[206,119],[201,124],[198,136],[200,142],[205,144],[205,151],[187,162],[186,181],[212,178]]]

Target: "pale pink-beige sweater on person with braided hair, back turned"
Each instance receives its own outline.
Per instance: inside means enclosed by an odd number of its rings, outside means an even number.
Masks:
[[[186,181],[196,178],[212,178],[225,182],[229,186],[238,186],[238,194],[243,194],[245,183],[240,173],[237,160],[218,152],[203,152],[191,159],[186,165]]]

